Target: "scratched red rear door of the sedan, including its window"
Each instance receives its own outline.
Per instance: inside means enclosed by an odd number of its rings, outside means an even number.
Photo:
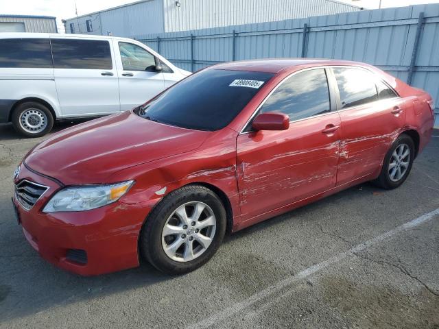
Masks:
[[[337,185],[375,173],[405,123],[409,106],[366,69],[335,66],[342,119]]]

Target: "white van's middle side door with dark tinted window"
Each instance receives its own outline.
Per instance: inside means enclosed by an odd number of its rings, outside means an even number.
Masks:
[[[119,86],[110,42],[97,38],[51,38],[62,117],[119,112]]]

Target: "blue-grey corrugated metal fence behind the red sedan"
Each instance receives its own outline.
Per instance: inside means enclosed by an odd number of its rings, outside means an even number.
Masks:
[[[252,58],[367,62],[427,90],[439,125],[439,4],[134,37],[188,71]]]

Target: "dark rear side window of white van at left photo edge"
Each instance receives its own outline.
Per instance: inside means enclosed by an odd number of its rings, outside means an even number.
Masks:
[[[0,39],[0,67],[51,69],[49,38]]]

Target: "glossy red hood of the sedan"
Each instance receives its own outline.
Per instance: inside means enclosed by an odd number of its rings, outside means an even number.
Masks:
[[[66,185],[104,183],[121,169],[196,149],[209,134],[123,112],[54,134],[25,164]]]

